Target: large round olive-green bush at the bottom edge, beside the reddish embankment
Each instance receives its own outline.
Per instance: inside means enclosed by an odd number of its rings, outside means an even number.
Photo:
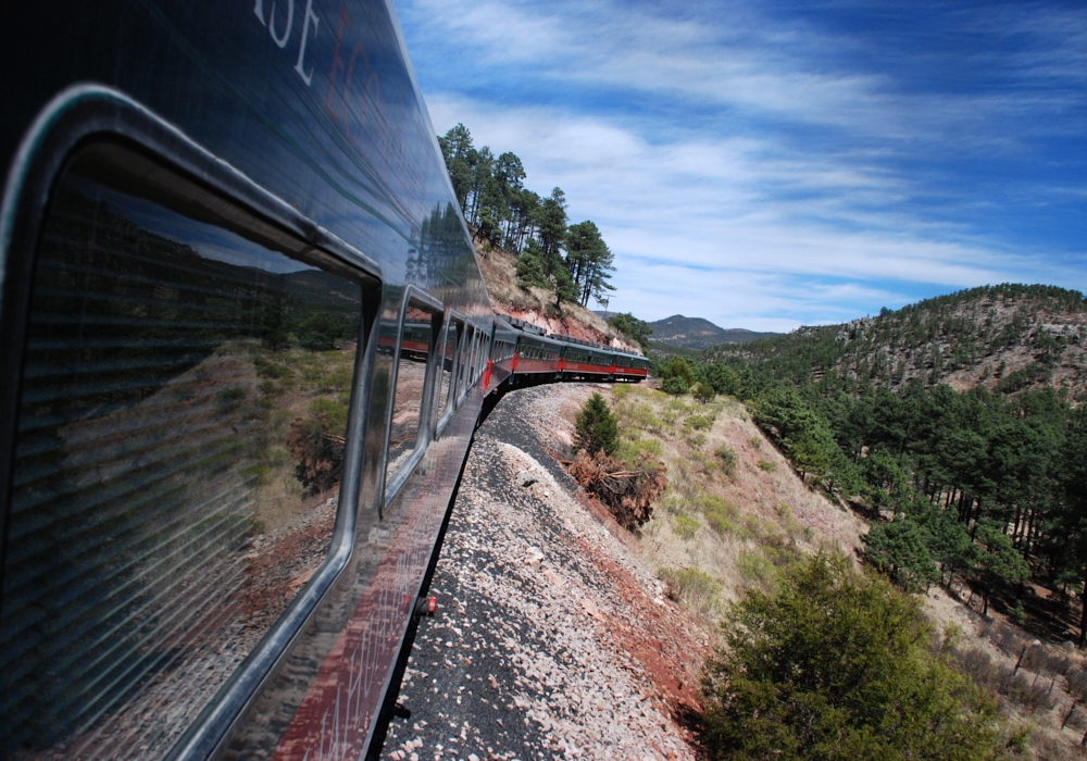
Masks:
[[[702,741],[729,759],[1003,757],[997,706],[929,649],[920,602],[838,553],[728,607],[707,664]]]

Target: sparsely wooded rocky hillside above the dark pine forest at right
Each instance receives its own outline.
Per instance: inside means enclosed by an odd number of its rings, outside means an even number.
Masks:
[[[926,299],[840,325],[801,327],[708,350],[797,383],[978,385],[997,394],[1051,386],[1087,398],[1087,301],[1054,286],[998,285]]]

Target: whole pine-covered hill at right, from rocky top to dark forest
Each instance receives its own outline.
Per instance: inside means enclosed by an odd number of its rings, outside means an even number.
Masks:
[[[901,586],[1083,647],[1085,325],[1077,291],[1001,285],[654,371],[747,400],[811,488],[869,515],[867,559]]]

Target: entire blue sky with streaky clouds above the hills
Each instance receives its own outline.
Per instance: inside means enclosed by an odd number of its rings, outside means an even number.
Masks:
[[[1087,5],[401,0],[434,126],[615,253],[611,309],[841,322],[1087,290]]]

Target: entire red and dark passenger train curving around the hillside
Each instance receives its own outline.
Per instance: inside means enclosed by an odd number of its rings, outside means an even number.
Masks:
[[[0,32],[0,759],[375,756],[496,317],[386,0]]]

